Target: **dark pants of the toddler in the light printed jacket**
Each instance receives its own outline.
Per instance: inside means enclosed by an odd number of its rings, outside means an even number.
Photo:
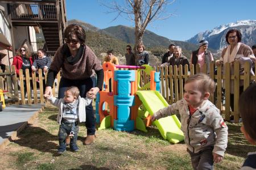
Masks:
[[[198,153],[193,153],[187,149],[191,156],[192,167],[195,170],[213,169],[213,147],[208,146]]]

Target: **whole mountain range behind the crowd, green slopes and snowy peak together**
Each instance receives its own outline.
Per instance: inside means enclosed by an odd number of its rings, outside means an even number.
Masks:
[[[79,24],[85,29],[86,44],[96,53],[101,61],[106,56],[106,52],[109,49],[113,49],[114,55],[119,58],[119,63],[125,64],[126,45],[130,44],[133,46],[135,43],[133,27],[117,25],[100,29],[75,19],[69,20],[68,24]],[[214,58],[217,58],[217,53],[227,45],[225,35],[231,28],[241,31],[242,42],[250,46],[255,44],[256,20],[240,20],[236,23],[220,25],[210,31],[200,32],[187,41],[170,40],[146,30],[143,36],[143,44],[150,52],[150,63],[152,63],[152,66],[161,63],[162,56],[167,52],[168,45],[171,43],[181,46],[183,54],[190,58],[192,50],[196,50],[198,42],[203,39],[209,42],[209,50],[213,53]]]

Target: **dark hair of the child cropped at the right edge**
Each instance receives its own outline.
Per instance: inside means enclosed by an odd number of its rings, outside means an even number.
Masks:
[[[256,84],[253,83],[242,92],[239,98],[239,114],[242,117],[245,131],[256,141]]]

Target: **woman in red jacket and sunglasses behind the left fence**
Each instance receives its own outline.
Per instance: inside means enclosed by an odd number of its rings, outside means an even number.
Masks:
[[[26,69],[30,71],[32,66],[32,57],[26,46],[21,46],[17,52],[17,56],[13,57],[13,65],[15,66],[16,75],[19,75],[19,70],[22,69],[23,77],[26,75]],[[27,92],[26,80],[24,80],[24,94]]]

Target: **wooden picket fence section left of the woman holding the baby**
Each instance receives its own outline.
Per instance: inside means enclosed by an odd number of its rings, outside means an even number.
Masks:
[[[46,100],[43,94],[43,83],[47,78],[47,73],[44,75],[43,70],[39,69],[38,73],[34,72],[30,75],[29,70],[26,69],[24,76],[17,76],[15,67],[11,70],[7,67],[5,73],[0,70],[0,88],[5,92],[7,104],[44,104]],[[19,70],[19,75],[23,75],[23,70]],[[52,94],[59,90],[60,73],[56,77],[57,86],[54,83]],[[25,94],[24,83],[26,83],[27,92]]]

